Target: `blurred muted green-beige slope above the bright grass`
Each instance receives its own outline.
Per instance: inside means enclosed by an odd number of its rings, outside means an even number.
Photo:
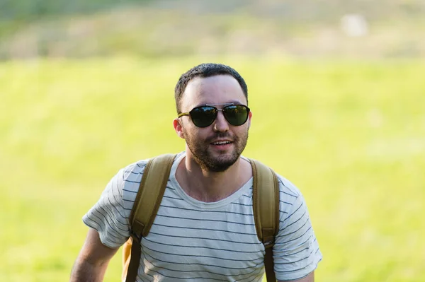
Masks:
[[[1,0],[0,58],[424,56],[421,0]]]

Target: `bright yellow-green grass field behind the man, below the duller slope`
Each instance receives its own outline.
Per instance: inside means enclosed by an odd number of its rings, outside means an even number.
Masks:
[[[305,195],[324,254],[317,281],[425,281],[425,64],[208,61],[248,83],[244,155]],[[0,281],[67,281],[81,216],[115,172],[183,150],[174,85],[200,62],[0,63]],[[105,281],[120,268],[117,256]]]

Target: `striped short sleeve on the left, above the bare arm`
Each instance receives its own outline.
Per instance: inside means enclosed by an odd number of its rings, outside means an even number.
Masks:
[[[131,208],[123,200],[124,170],[120,170],[106,185],[97,203],[84,215],[83,222],[98,231],[103,245],[116,248],[130,237]]]

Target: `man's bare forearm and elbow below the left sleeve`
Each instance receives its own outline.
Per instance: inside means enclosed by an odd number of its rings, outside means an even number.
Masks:
[[[98,232],[90,228],[72,268],[70,282],[103,281],[108,263],[117,251],[118,248],[112,249],[103,245]]]

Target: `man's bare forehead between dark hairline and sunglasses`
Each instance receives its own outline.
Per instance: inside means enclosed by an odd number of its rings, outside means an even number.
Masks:
[[[182,110],[205,104],[234,102],[246,105],[246,97],[233,76],[218,75],[193,78],[189,81],[181,100]]]

